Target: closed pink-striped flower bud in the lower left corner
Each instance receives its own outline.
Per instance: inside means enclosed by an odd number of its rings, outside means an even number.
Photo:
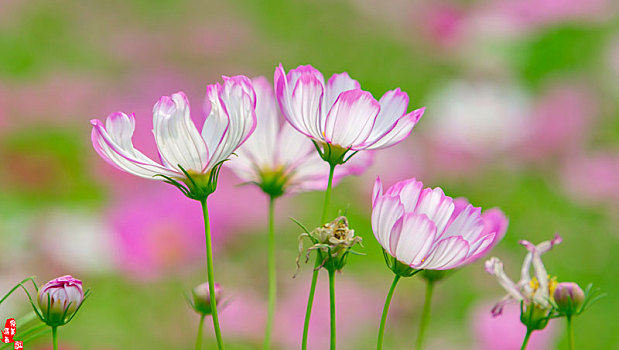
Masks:
[[[45,323],[52,327],[66,324],[83,300],[82,281],[71,275],[53,279],[39,290],[41,316]]]

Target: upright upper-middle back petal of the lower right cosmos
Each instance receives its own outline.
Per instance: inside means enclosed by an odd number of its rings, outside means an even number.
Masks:
[[[453,210],[453,199],[446,196],[440,187],[423,189],[415,208],[416,213],[426,214],[434,221],[439,236],[444,231]]]

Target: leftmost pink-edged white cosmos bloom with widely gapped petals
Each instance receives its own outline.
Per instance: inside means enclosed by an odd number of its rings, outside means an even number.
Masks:
[[[206,89],[206,120],[202,132],[191,119],[184,93],[163,96],[153,108],[153,134],[162,164],[134,148],[133,114],[108,116],[105,125],[91,120],[92,143],[99,155],[113,166],[147,179],[165,175],[185,179],[189,174],[208,174],[228,159],[256,127],[256,94],[244,76],[222,77],[223,84]]]

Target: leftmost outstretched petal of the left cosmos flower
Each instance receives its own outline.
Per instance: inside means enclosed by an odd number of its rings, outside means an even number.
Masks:
[[[153,179],[155,175],[179,176],[179,173],[167,169],[145,156],[133,147],[131,138],[135,130],[133,115],[124,113],[111,114],[106,125],[99,120],[90,121],[93,125],[92,144],[97,153],[108,163],[130,174]]]

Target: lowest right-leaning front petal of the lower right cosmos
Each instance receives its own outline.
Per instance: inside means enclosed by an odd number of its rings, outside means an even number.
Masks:
[[[428,270],[452,269],[466,259],[468,252],[469,244],[466,240],[459,236],[448,237],[436,242],[422,263],[413,267]]]

